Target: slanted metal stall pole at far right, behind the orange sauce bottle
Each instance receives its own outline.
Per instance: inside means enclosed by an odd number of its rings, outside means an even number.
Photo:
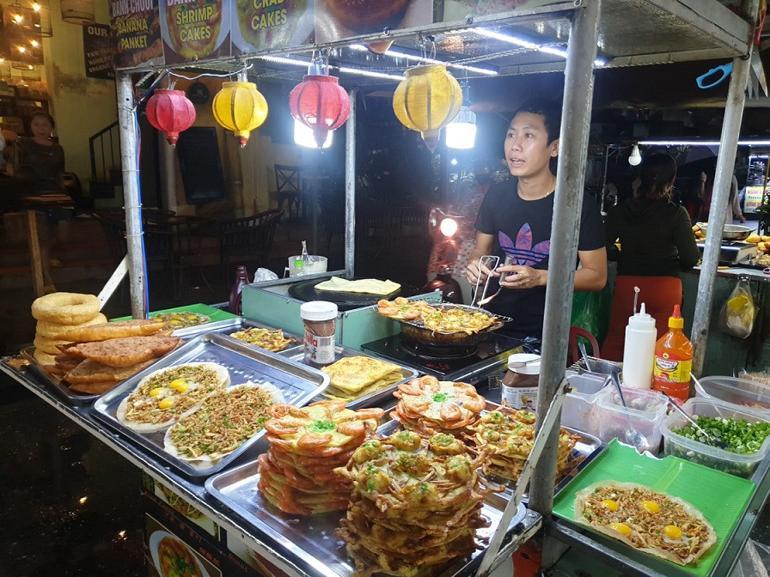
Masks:
[[[752,3],[755,4],[755,3]],[[756,9],[756,5],[754,6]],[[754,10],[752,13],[756,12]],[[698,300],[690,337],[693,343],[692,372],[700,376],[706,359],[711,306],[714,302],[714,284],[722,248],[722,229],[727,219],[727,203],[733,180],[738,137],[743,119],[743,105],[746,102],[746,84],[751,66],[751,44],[749,54],[733,60],[733,72],[725,104],[722,136],[719,139],[719,155],[714,177],[714,186],[709,208],[709,234],[703,251],[700,277],[698,279]]]

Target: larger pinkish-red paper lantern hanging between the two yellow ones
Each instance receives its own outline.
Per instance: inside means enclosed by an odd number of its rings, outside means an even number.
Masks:
[[[289,94],[291,115],[313,131],[318,148],[350,115],[350,98],[335,76],[308,74]]]

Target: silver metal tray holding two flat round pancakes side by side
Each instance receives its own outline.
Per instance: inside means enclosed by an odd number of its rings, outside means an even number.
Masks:
[[[249,347],[245,343],[226,339],[218,334],[206,334],[194,338],[152,367],[105,393],[91,408],[91,412],[97,419],[192,478],[207,477],[222,470],[254,445],[264,434],[264,429],[216,464],[195,467],[164,450],[163,437],[166,430],[148,434],[138,433],[124,426],[115,416],[120,402],[136,388],[143,377],[158,369],[191,362],[212,362],[227,367],[232,385],[240,385],[247,381],[272,383],[281,390],[287,403],[296,406],[306,404],[329,384],[327,375],[294,363],[286,357]]]

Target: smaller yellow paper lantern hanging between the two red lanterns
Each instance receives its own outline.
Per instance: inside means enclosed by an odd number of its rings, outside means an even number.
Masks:
[[[234,133],[241,148],[249,141],[251,131],[267,118],[267,100],[253,82],[224,82],[211,103],[214,120]]]

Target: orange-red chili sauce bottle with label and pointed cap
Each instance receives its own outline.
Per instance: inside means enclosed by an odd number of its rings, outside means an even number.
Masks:
[[[690,397],[692,343],[682,329],[684,319],[679,305],[668,319],[668,332],[655,345],[655,366],[652,388],[667,393],[674,399],[686,401]]]

